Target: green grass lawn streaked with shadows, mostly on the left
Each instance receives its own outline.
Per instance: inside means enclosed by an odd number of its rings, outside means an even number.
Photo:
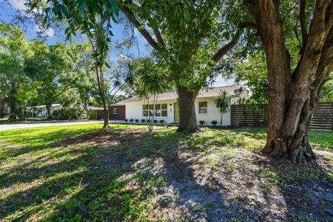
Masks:
[[[158,127],[149,135],[146,126],[112,125],[105,131],[101,124],[85,124],[0,131],[0,221],[162,221],[167,213],[157,207],[155,196],[162,195],[170,176],[143,170],[139,160],[150,167],[161,157],[166,163],[180,162],[184,153],[177,151],[186,148],[193,152],[189,157],[200,156],[199,164],[243,170],[266,138],[264,128],[204,128],[190,135],[175,130]],[[310,141],[330,151],[333,133],[311,131]],[[180,169],[166,167],[173,170]],[[262,189],[282,189],[288,179],[271,169],[253,172],[264,178]],[[313,178],[321,180],[321,175]],[[329,178],[330,172],[323,176]],[[192,208],[200,213],[197,205]],[[189,218],[178,216],[179,221]]]

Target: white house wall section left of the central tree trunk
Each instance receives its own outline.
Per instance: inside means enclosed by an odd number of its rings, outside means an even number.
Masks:
[[[173,103],[176,103],[176,100],[157,101],[157,103],[167,103],[168,116],[155,117],[154,119],[157,119],[157,121],[164,119],[165,123],[173,123]],[[143,105],[144,103],[142,103],[142,101],[126,103],[126,119],[139,119],[139,123],[141,119],[146,119],[146,117],[144,117]]]

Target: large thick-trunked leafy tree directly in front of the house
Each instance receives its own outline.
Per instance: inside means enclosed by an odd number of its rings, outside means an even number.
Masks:
[[[165,78],[176,85],[180,107],[178,131],[199,130],[194,101],[207,80],[219,73],[216,63],[237,44],[247,26],[240,22],[244,17],[229,19],[227,24],[230,11],[223,10],[221,1],[214,0],[116,3],[168,69]],[[230,41],[223,44],[227,40]]]

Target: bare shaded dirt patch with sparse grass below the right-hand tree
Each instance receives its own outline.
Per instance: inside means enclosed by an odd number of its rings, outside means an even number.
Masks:
[[[64,138],[52,146],[93,146],[83,159],[92,162],[92,174],[108,175],[117,169],[117,179],[126,182],[126,191],[151,192],[147,201],[153,207],[146,215],[148,219],[333,221],[330,150],[316,150],[318,159],[314,162],[293,164],[266,157],[257,149],[221,146],[212,141],[198,149],[186,145],[182,141],[185,137],[158,131],[151,135],[146,129],[112,129]],[[149,189],[140,187],[133,180],[138,171],[147,178],[163,178],[158,182],[162,189],[154,183]],[[108,178],[103,180],[108,185]],[[87,181],[87,185],[94,182]],[[84,217],[89,219],[89,214]]]

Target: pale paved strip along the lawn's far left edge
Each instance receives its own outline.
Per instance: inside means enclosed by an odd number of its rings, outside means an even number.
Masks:
[[[12,130],[19,128],[34,128],[41,126],[65,126],[65,125],[80,125],[87,123],[103,123],[103,121],[58,121],[58,122],[44,122],[44,123],[12,123],[12,124],[0,124],[0,130]]]

